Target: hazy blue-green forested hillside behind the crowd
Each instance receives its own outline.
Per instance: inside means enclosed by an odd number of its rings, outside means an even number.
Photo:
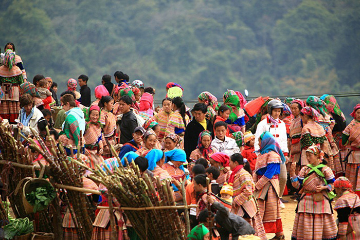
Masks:
[[[251,96],[360,91],[358,0],[2,0],[0,47],[29,79],[128,73],[185,99],[226,88]],[[161,96],[160,96],[161,95]],[[339,99],[350,108],[358,98]]]

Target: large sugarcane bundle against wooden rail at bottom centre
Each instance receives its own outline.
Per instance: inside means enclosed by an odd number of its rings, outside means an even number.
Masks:
[[[112,151],[114,152],[114,150]],[[118,157],[117,160],[119,168],[114,166],[114,171],[110,171],[104,165],[106,171],[103,171],[97,165],[94,171],[96,176],[92,176],[92,178],[104,184],[109,193],[116,197],[121,207],[133,207],[137,210],[159,207],[143,211],[123,210],[139,237],[143,240],[185,240],[185,227],[177,210],[161,209],[162,206],[175,206],[170,182],[161,182],[159,178],[156,178],[155,190],[154,183],[147,174],[143,178],[140,176],[139,168],[134,161],[129,164],[125,159],[125,163],[129,167],[124,168]]]

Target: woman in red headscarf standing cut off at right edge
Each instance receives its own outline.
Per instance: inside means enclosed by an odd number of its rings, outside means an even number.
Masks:
[[[358,103],[350,114],[354,119],[343,132],[343,145],[350,147],[346,164],[345,176],[350,180],[356,194],[360,193],[360,104]],[[359,195],[359,194],[358,194]]]

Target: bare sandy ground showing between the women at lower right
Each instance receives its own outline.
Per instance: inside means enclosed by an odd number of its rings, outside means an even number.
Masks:
[[[290,196],[284,196],[283,199],[289,200],[285,205],[284,209],[281,209],[281,220],[282,220],[282,229],[284,230],[285,240],[291,239],[291,234],[293,232],[294,219],[295,219],[295,209],[297,206],[297,201],[290,198]],[[334,202],[332,204],[334,205]],[[333,206],[334,207],[334,206]],[[334,217],[336,219],[336,211],[334,211]],[[271,239],[275,236],[274,233],[266,234],[268,239]]]

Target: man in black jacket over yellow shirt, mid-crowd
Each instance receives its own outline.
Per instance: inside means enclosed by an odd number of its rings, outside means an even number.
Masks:
[[[188,162],[191,162],[190,154],[196,149],[199,134],[204,130],[212,132],[212,123],[205,118],[206,112],[207,106],[204,103],[196,103],[191,110],[193,118],[186,126],[184,136],[184,150]]]

